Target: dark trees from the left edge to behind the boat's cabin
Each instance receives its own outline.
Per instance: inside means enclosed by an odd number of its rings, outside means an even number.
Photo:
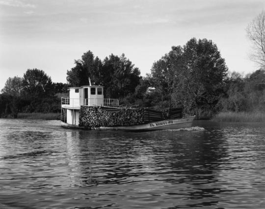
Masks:
[[[20,112],[60,112],[61,96],[68,94],[67,88],[89,85],[89,78],[94,85],[105,86],[105,96],[110,98],[133,94],[142,78],[124,54],[111,54],[101,61],[91,51],[75,60],[75,67],[66,74],[67,84],[53,83],[39,69],[28,69],[23,77],[8,78],[0,94],[0,117],[16,118]]]

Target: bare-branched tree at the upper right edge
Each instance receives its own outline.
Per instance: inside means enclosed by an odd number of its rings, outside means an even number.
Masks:
[[[265,10],[263,10],[246,28],[252,43],[250,59],[265,67]]]

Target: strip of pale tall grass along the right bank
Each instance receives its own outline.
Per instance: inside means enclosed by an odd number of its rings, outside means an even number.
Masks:
[[[265,112],[221,112],[212,120],[219,122],[264,122]]]

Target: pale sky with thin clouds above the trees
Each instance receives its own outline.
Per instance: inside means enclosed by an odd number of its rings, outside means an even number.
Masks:
[[[0,89],[8,77],[44,70],[66,82],[74,60],[91,50],[125,56],[145,76],[188,40],[212,40],[229,71],[258,70],[245,28],[265,0],[0,0]]]

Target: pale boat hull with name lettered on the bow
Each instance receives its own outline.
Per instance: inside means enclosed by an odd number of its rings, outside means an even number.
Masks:
[[[91,130],[122,130],[122,131],[157,131],[157,130],[169,130],[188,128],[192,126],[192,121],[195,116],[182,117],[176,119],[161,120],[156,122],[149,122],[141,125],[132,126],[101,126],[101,127],[79,127],[77,125],[70,125],[61,121],[61,126],[64,128],[79,128],[79,129],[91,129]]]

